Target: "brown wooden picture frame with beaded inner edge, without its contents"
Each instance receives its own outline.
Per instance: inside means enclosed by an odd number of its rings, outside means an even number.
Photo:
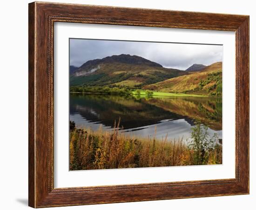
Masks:
[[[249,194],[249,16],[29,4],[29,206],[34,208]],[[54,22],[236,32],[236,178],[54,188]]]

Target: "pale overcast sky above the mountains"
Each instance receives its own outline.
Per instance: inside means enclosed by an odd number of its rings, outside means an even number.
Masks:
[[[186,70],[193,64],[210,65],[222,61],[222,46],[135,41],[70,39],[70,65],[88,60],[130,54],[154,61],[167,68]]]

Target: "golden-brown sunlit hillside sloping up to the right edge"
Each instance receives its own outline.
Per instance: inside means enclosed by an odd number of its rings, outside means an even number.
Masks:
[[[191,72],[152,85],[145,85],[143,89],[220,96],[222,94],[222,62],[207,66],[200,72]]]

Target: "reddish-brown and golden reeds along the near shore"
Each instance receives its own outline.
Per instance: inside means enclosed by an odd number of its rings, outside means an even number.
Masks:
[[[197,164],[222,164],[222,144],[203,148],[203,153],[195,151],[183,142],[162,139],[136,138],[119,130],[120,120],[113,131],[70,129],[69,169],[117,169],[157,166],[180,166]],[[156,129],[155,129],[156,133]],[[200,154],[202,159],[195,158]],[[202,157],[203,154],[203,157]]]

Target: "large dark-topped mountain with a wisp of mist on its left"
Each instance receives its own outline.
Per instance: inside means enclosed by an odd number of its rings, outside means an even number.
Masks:
[[[70,76],[70,85],[118,85],[141,88],[187,74],[136,55],[121,54],[89,60]]]

